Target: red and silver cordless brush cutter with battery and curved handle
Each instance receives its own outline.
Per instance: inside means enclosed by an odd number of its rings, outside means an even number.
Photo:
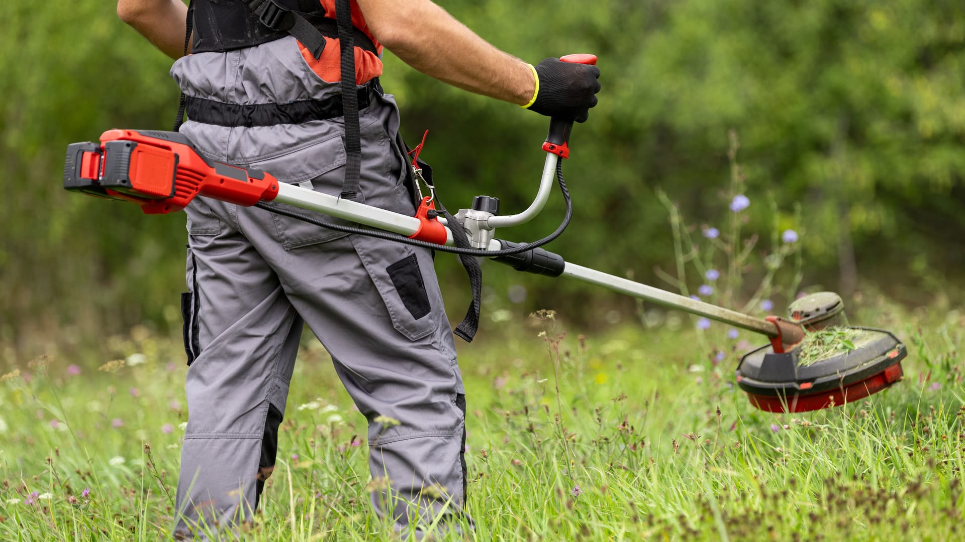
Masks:
[[[593,55],[570,55],[565,62],[595,64]],[[178,132],[108,130],[100,143],[75,143],[68,147],[64,187],[101,198],[137,203],[145,213],[178,211],[196,196],[239,205],[255,205],[286,214],[325,228],[372,235],[439,252],[462,256],[489,257],[519,271],[549,277],[565,276],[600,285],[620,293],[684,312],[699,314],[731,326],[764,335],[770,344],[746,354],[736,370],[737,385],[748,393],[751,403],[770,412],[803,412],[840,406],[877,393],[900,380],[901,360],[907,354],[890,332],[850,327],[841,297],[821,292],[798,299],[789,317],[756,318],[653,286],[635,283],[588,267],[565,261],[540,247],[564,229],[572,203],[566,190],[560,158],[569,155],[572,122],[552,119],[542,149],[546,152],[537,197],[521,213],[499,214],[499,201],[477,196],[471,208],[459,209],[453,220],[439,216],[434,206],[434,189],[422,201],[416,216],[315,192],[295,184],[279,182],[269,173],[214,162],[203,156]],[[422,179],[418,165],[414,173]],[[517,244],[494,238],[497,228],[523,224],[542,209],[557,180],[566,203],[563,223],[551,235],[534,243]],[[425,179],[424,179],[425,180]],[[417,181],[418,184],[418,181]],[[270,203],[269,203],[270,202]],[[271,203],[287,203],[312,213],[300,213]],[[322,223],[322,213],[358,223],[355,228]],[[455,247],[453,228],[459,239]],[[465,235],[461,232],[464,231]],[[852,339],[846,352],[821,354],[802,360],[803,345],[813,333],[825,328],[848,330]]]

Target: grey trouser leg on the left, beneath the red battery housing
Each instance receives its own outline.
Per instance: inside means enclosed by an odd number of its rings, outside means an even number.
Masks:
[[[199,200],[186,212],[190,366],[176,532],[190,538],[189,528],[214,532],[251,518],[274,468],[302,321],[235,229],[233,205]]]

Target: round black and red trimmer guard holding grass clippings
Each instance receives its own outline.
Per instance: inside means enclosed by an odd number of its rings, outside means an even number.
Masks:
[[[905,345],[892,333],[851,327],[862,335],[855,349],[799,366],[799,347],[783,354],[771,345],[746,354],[737,366],[737,385],[751,404],[768,412],[806,412],[867,397],[901,379]]]

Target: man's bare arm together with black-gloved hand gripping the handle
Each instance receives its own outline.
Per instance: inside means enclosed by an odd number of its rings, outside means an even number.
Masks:
[[[402,61],[423,73],[460,89],[487,95],[544,115],[586,121],[596,104],[599,70],[583,65],[537,71],[477,36],[430,0],[358,0],[369,30]],[[586,75],[593,73],[593,85]],[[582,74],[582,75],[580,75]],[[545,77],[545,81],[544,81]],[[537,78],[542,88],[537,95]],[[574,82],[573,89],[565,88]],[[595,89],[595,90],[594,90]],[[589,97],[587,96],[589,91]],[[542,96],[542,98],[540,98]],[[536,102],[534,103],[534,98]],[[592,98],[592,100],[590,99]],[[574,99],[572,103],[564,103]]]

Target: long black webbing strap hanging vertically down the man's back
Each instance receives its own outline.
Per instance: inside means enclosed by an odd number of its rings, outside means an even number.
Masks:
[[[335,20],[339,27],[342,53],[342,109],[345,113],[345,182],[342,197],[354,200],[358,196],[362,169],[362,131],[359,128],[358,96],[355,95],[355,35],[352,32],[354,27],[349,0],[335,0]]]

